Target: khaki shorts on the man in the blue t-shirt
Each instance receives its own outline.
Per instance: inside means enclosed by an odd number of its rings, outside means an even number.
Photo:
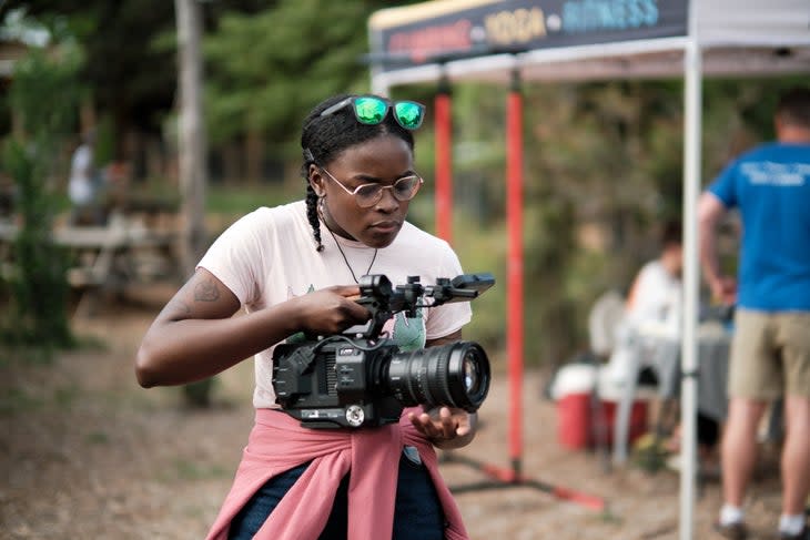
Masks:
[[[810,397],[810,313],[737,309],[728,394]]]

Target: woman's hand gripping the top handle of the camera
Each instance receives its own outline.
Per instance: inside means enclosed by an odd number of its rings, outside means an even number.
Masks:
[[[328,336],[368,320],[368,309],[357,304],[357,285],[336,285],[288,300],[294,303],[296,320],[302,330]]]

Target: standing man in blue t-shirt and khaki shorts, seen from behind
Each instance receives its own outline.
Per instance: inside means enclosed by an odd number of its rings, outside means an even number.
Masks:
[[[777,142],[730,163],[699,203],[700,259],[712,295],[737,304],[729,365],[729,410],[721,447],[723,507],[717,530],[745,539],[742,509],[767,405],[784,398],[779,538],[810,538],[810,89],[779,101]],[[723,276],[718,220],[742,221],[738,282]]]

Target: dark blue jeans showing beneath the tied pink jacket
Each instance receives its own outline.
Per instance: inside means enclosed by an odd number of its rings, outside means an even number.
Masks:
[[[284,493],[303,475],[304,463],[271,478],[231,521],[229,540],[247,540],[259,531]],[[351,472],[350,472],[351,473]],[[345,540],[348,529],[348,476],[341,481],[320,540]],[[424,465],[399,458],[393,540],[442,540],[446,527],[442,505]]]

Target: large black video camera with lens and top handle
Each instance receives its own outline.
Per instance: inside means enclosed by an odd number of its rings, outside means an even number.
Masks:
[[[404,407],[448,406],[475,411],[489,389],[489,360],[475,342],[403,351],[383,332],[396,313],[469,302],[495,283],[464,274],[424,286],[418,277],[392,286],[384,275],[361,278],[372,314],[366,325],[333,336],[285,343],[273,351],[273,388],[282,410],[308,428],[358,428],[399,421]]]

